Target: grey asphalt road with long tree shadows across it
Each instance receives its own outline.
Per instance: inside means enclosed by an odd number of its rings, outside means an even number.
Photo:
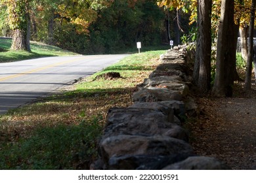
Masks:
[[[54,93],[125,56],[66,56],[0,63],[0,114]]]

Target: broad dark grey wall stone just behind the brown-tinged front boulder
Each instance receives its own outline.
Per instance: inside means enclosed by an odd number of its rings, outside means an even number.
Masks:
[[[165,110],[165,108],[163,108]],[[102,138],[116,135],[164,135],[188,141],[188,133],[175,124],[173,109],[165,114],[160,110],[144,108],[114,108],[107,118]]]

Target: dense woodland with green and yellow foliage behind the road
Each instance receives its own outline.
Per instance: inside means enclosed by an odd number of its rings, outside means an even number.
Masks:
[[[12,37],[10,22],[16,22],[16,17],[10,20],[7,2],[0,7],[0,35]],[[154,0],[30,0],[26,7],[30,40],[80,54],[124,52],[136,48],[137,41],[142,46],[168,45],[169,40],[179,44],[191,29],[188,14],[160,8]]]

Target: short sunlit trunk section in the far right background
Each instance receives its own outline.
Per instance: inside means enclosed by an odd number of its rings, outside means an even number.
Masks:
[[[248,28],[247,25],[241,25],[239,28],[240,33],[240,41],[241,41],[241,54],[242,58],[244,60],[247,60],[248,56],[248,34],[247,34]]]

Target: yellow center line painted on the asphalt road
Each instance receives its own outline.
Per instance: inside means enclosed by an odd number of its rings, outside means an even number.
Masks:
[[[35,73],[37,71],[42,71],[44,69],[48,69],[48,68],[51,68],[51,67],[56,67],[58,65],[62,65],[64,63],[70,63],[70,62],[73,62],[73,61],[78,61],[78,60],[81,60],[81,59],[84,59],[84,58],[76,58],[76,59],[70,59],[70,60],[67,60],[67,61],[62,61],[62,62],[59,62],[59,63],[54,63],[54,64],[51,64],[51,65],[46,65],[44,67],[39,67],[37,69],[33,69],[31,71],[27,71],[27,72],[24,72],[24,73],[18,73],[16,75],[11,75],[11,76],[6,76],[6,77],[3,77],[3,78],[0,78],[0,81],[3,81],[3,80],[8,80],[8,79],[11,79],[11,78],[16,78],[18,76],[22,76],[22,75],[28,75],[28,74],[31,74],[31,73]]]

